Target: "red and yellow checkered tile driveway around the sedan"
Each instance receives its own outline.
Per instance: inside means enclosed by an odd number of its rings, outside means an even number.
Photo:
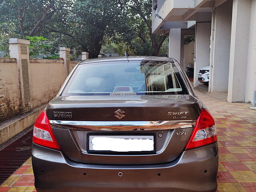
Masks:
[[[219,143],[219,192],[256,192],[256,110],[247,103],[228,103],[223,94],[198,97],[216,120]],[[220,98],[220,100],[218,99]],[[0,192],[34,190],[31,159],[1,186]]]

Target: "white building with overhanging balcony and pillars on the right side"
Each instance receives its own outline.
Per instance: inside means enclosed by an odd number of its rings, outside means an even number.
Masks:
[[[210,65],[209,92],[256,106],[256,0],[153,0],[152,33],[169,34],[169,56],[182,66],[184,33],[193,31],[194,86]]]

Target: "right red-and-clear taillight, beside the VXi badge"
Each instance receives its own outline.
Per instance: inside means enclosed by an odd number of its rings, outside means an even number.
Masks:
[[[202,147],[216,141],[217,133],[214,118],[208,110],[202,109],[185,150]]]

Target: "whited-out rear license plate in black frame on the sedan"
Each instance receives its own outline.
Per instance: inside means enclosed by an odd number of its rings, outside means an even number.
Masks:
[[[89,152],[154,152],[153,135],[89,135]]]

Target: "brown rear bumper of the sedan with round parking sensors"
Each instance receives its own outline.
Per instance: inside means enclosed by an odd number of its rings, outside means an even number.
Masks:
[[[37,192],[215,192],[218,146],[189,150],[164,164],[102,165],[73,162],[34,144],[32,164]]]

